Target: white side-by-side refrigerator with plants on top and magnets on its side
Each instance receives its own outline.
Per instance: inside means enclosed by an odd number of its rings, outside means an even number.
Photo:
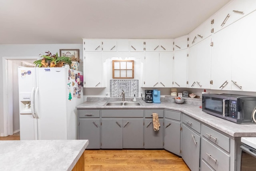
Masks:
[[[70,68],[18,68],[20,140],[77,139],[76,105],[83,73]]]

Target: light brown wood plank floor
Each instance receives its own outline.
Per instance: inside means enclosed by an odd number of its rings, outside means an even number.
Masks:
[[[20,140],[19,135],[0,140]],[[181,157],[166,150],[85,150],[86,171],[190,171]]]

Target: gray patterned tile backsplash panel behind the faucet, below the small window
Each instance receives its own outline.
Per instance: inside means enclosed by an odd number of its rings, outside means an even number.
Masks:
[[[138,97],[139,80],[110,80],[110,97],[119,97],[124,90],[125,97]]]

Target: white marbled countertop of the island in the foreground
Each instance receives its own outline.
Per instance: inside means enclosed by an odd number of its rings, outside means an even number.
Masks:
[[[0,141],[1,171],[71,171],[88,140]]]

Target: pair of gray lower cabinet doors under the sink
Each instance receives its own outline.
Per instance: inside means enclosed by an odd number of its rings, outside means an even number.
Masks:
[[[102,149],[143,148],[143,118],[102,118]]]

